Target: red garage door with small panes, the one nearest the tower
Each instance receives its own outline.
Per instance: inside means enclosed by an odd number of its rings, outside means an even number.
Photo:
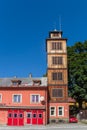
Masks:
[[[43,111],[27,110],[27,124],[32,124],[32,125],[43,124]]]

